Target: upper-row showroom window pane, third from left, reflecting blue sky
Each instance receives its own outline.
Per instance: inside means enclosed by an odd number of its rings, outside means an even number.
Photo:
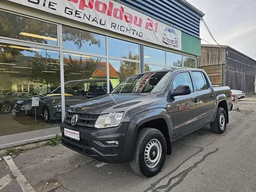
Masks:
[[[139,44],[108,38],[109,56],[139,60]]]

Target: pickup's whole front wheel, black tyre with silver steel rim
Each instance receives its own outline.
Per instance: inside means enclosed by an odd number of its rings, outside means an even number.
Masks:
[[[166,150],[166,141],[161,131],[142,129],[135,143],[131,169],[141,176],[153,177],[164,166]]]

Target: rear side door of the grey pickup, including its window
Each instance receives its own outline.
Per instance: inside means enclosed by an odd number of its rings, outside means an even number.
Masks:
[[[214,91],[202,71],[192,71],[200,105],[200,126],[212,121],[214,115]]]

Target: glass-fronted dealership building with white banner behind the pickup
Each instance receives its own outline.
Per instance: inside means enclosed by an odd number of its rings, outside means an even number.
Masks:
[[[2,0],[0,149],[52,138],[68,106],[131,75],[197,68],[203,15],[185,0]]]

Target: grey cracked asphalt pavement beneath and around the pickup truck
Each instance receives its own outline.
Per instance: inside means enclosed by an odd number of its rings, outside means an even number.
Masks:
[[[172,143],[172,155],[153,178],[139,177],[127,163],[103,164],[61,145],[11,157],[18,177],[1,157],[0,182],[9,183],[2,189],[0,183],[0,192],[24,191],[20,177],[35,191],[256,191],[255,125],[253,95],[230,112],[226,133],[211,133],[207,126]]]

